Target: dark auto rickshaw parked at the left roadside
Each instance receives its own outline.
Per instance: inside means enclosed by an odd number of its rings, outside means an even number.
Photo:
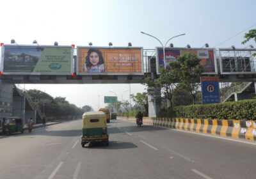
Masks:
[[[21,132],[23,134],[22,118],[19,116],[5,118],[3,123],[3,134],[10,135],[15,132]]]

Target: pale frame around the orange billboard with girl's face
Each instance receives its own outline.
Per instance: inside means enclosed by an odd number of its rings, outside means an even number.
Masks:
[[[79,49],[140,49],[141,52],[141,72],[133,72],[133,73],[113,73],[113,72],[105,72],[105,73],[81,73],[79,71],[80,65],[80,55]],[[100,47],[100,46],[77,46],[77,61],[76,61],[76,74],[77,75],[144,75],[144,66],[143,66],[143,47]]]

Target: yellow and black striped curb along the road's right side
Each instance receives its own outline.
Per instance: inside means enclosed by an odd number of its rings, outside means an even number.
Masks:
[[[136,121],[135,118],[125,119],[128,121]],[[223,137],[256,141],[256,121],[188,118],[143,118],[143,123],[147,125],[176,128],[191,132],[201,132],[204,134],[214,134]]]

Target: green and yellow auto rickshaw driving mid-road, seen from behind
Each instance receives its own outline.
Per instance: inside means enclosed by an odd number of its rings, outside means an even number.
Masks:
[[[108,146],[109,135],[106,122],[106,114],[102,111],[93,111],[83,114],[83,135],[81,145],[87,143],[102,142]]]

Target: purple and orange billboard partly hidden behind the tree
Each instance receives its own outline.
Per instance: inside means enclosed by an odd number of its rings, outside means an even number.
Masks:
[[[163,48],[157,47],[158,66],[164,67]],[[217,64],[214,49],[187,49],[187,48],[165,48],[166,69],[170,69],[169,62],[176,60],[182,54],[190,53],[200,59],[200,64],[204,67],[204,74],[217,74]],[[159,69],[157,68],[157,73]]]

